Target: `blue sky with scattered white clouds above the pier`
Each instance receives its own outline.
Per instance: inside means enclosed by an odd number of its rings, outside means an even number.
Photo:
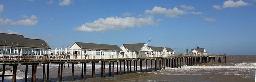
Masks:
[[[2,0],[0,32],[74,42],[147,43],[177,53],[256,54],[256,0]]]

